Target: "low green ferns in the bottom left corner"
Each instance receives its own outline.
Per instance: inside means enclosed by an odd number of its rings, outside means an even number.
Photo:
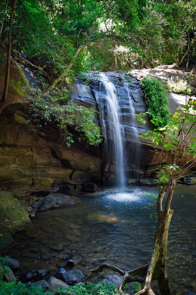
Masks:
[[[41,287],[35,287],[32,284],[23,284],[21,282],[2,282],[0,284],[0,295],[45,295]],[[48,292],[48,295],[51,293]]]

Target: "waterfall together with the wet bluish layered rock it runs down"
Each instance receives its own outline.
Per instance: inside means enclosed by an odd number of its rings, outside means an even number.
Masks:
[[[105,185],[126,188],[137,184],[142,165],[139,133],[148,130],[134,117],[135,108],[137,114],[147,111],[141,85],[133,77],[116,72],[90,72],[86,80],[78,80],[75,101],[98,111],[95,122],[104,138]]]

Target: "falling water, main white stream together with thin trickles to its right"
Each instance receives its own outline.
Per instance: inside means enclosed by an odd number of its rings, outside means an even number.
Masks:
[[[110,74],[111,75],[111,74]],[[121,76],[120,85],[118,77],[115,84],[109,80],[110,75],[99,74],[99,93],[102,112],[102,131],[104,134],[104,162],[105,178],[119,188],[127,186],[128,171],[131,177],[138,178],[139,166],[139,134],[136,128],[133,96],[129,83]],[[112,79],[113,77],[110,77]],[[129,136],[127,143],[126,135]],[[131,164],[130,164],[131,163]],[[113,179],[111,179],[113,178]],[[112,181],[113,180],[113,181]]]

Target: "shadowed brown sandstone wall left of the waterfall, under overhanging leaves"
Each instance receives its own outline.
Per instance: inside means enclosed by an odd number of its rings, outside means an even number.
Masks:
[[[101,153],[98,156],[82,145],[80,149],[66,147],[55,129],[48,139],[27,123],[16,122],[15,114],[25,118],[21,110],[5,110],[0,116],[0,187],[86,182],[89,178],[100,183]]]

